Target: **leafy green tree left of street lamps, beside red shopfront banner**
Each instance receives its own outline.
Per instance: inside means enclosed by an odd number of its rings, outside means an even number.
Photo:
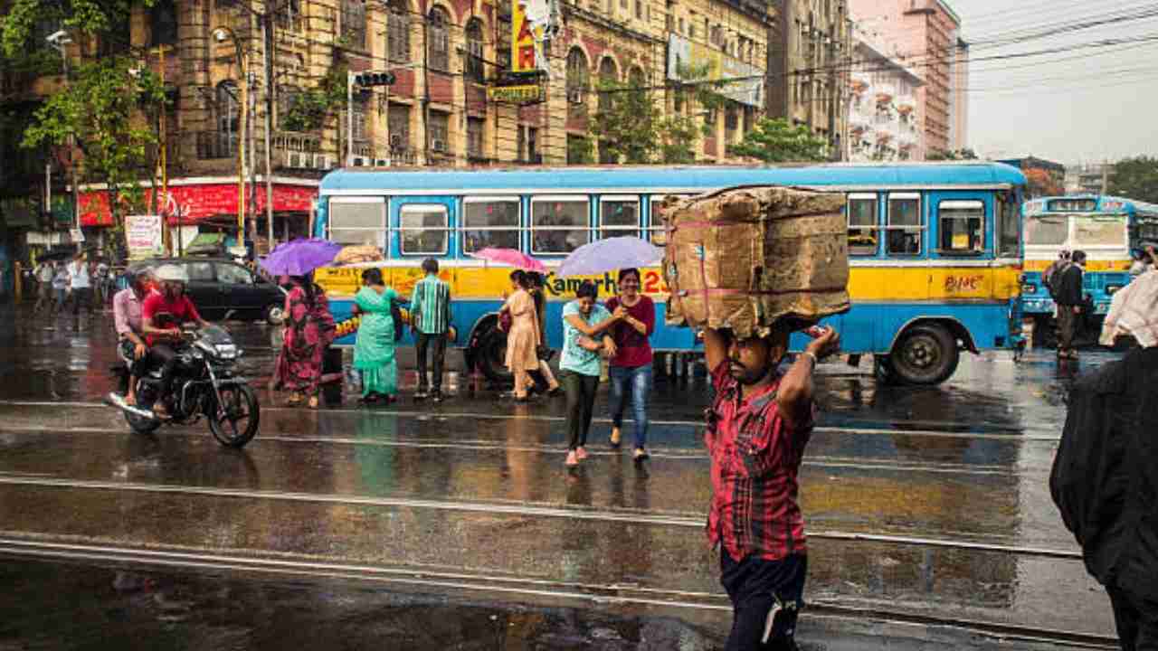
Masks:
[[[113,226],[123,232],[126,210],[144,204],[144,176],[155,186],[156,118],[166,95],[160,79],[130,57],[105,57],[76,67],[67,87],[36,110],[21,145],[27,149],[80,149],[81,183],[104,183]],[[154,192],[155,195],[155,192]]]

